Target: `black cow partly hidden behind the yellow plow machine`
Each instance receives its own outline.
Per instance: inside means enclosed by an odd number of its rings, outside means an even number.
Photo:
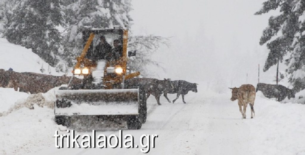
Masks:
[[[160,104],[160,96],[164,91],[171,89],[170,79],[158,80],[151,78],[133,78],[126,80],[126,86],[141,86],[147,93],[146,99],[153,95]]]

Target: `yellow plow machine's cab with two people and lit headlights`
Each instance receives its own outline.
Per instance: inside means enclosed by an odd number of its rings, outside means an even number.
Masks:
[[[140,74],[139,72],[126,74],[128,30],[119,27],[86,28],[83,31],[83,39],[84,49],[77,58],[73,74],[88,79],[84,81],[84,87],[88,84],[91,87],[93,83],[97,87],[103,86],[103,89],[113,89],[113,86],[124,88],[125,79]]]

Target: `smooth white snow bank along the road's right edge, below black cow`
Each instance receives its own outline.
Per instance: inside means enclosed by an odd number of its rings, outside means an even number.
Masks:
[[[261,96],[258,92],[255,118],[246,121],[251,126],[250,154],[305,154],[305,106],[280,104]]]

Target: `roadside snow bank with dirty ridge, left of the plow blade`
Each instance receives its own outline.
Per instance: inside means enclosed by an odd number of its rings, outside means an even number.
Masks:
[[[54,131],[66,129],[54,122],[55,89],[28,95],[0,88],[0,100],[4,100],[1,106],[10,106],[9,110],[1,108],[4,112],[0,113],[0,155],[30,153],[50,146],[54,143],[50,141]]]

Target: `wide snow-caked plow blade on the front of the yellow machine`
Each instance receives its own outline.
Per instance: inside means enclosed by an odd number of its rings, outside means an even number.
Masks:
[[[55,115],[136,115],[138,89],[57,90]]]

